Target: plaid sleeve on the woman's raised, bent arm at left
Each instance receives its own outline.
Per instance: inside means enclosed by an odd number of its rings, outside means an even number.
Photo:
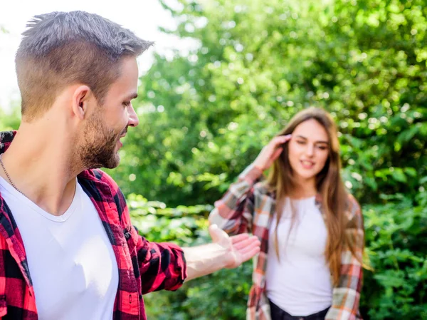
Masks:
[[[209,222],[217,224],[228,234],[251,232],[253,215],[253,185],[263,174],[257,167],[250,165],[231,184],[226,194],[215,202],[215,208],[209,215]]]

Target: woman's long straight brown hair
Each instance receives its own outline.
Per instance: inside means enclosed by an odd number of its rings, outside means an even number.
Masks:
[[[297,113],[278,135],[289,135],[297,128],[297,125],[310,119],[316,120],[325,128],[330,142],[329,156],[325,167],[316,176],[316,187],[317,193],[321,198],[322,212],[326,218],[327,245],[325,257],[330,267],[332,280],[334,284],[337,284],[339,281],[343,247],[348,247],[353,254],[355,252],[354,243],[345,236],[347,218],[344,211],[346,210],[348,195],[340,174],[341,160],[339,158],[337,127],[331,115],[325,110],[307,108]],[[280,221],[283,212],[285,197],[292,195],[292,190],[296,185],[288,154],[288,143],[285,143],[283,145],[283,153],[273,162],[270,174],[266,180],[268,189],[271,192],[275,192],[277,222]],[[292,210],[291,228],[294,222],[295,210]],[[279,255],[277,227],[275,229],[275,250],[276,254]],[[355,257],[357,256],[355,255]]]

